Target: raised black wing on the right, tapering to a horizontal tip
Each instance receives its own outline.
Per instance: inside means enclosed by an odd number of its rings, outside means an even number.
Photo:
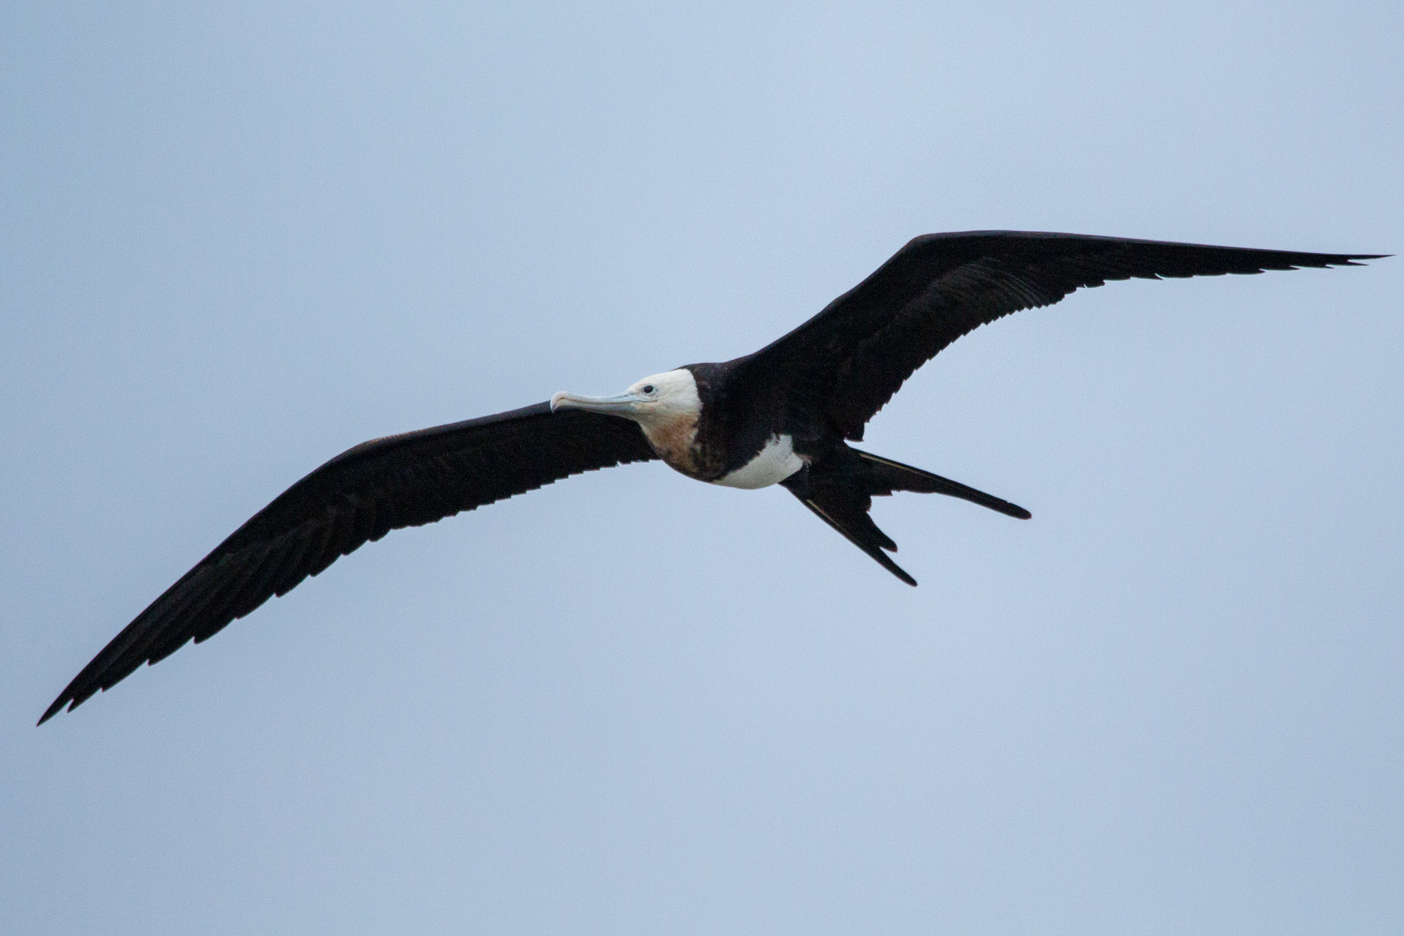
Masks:
[[[769,385],[755,392],[783,393],[856,441],[903,382],[952,341],[1074,289],[1133,276],[1258,274],[1376,258],[1087,234],[924,234],[799,328],[739,361],[737,373]]]

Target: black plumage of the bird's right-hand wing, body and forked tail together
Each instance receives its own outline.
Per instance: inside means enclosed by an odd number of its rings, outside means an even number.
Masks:
[[[939,491],[920,469],[873,479],[872,459],[851,449],[903,382],[942,348],[1004,316],[1059,302],[1115,279],[1259,274],[1356,265],[1379,255],[1306,254],[1125,237],[1036,232],[924,234],[817,316],[755,354],[695,365],[717,404],[703,408],[703,436],[734,469],[775,432],[789,432],[806,466],[781,481],[806,507],[893,575],[915,580],[883,550],[892,542],[868,516],[872,497]],[[922,479],[936,479],[929,481]],[[1029,512],[965,486],[963,497],[1011,516]]]

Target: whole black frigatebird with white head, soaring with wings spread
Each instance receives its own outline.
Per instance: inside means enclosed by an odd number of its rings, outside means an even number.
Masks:
[[[724,363],[689,363],[612,397],[557,393],[510,413],[364,442],[254,514],[166,589],[53,700],[44,724],[191,639],[392,529],[421,526],[570,474],[661,459],[739,488],[779,484],[893,575],[875,495],[948,494],[1029,519],[998,497],[848,445],[922,363],[960,335],[1109,279],[1353,267],[1384,254],[1306,254],[1122,237],[965,232],[911,240],[785,337]],[[885,551],[886,550],[886,551]]]

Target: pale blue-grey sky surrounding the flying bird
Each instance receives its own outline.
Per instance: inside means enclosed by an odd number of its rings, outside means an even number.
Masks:
[[[629,466],[37,730],[357,442],[914,234],[1404,253],[1404,7],[0,6],[0,932],[1398,933],[1404,261],[959,341],[879,525]],[[208,8],[206,8],[208,7]]]

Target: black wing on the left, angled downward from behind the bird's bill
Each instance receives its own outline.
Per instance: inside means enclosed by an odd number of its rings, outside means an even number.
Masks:
[[[39,724],[142,662],[218,633],[392,529],[421,526],[569,474],[657,457],[629,420],[536,406],[364,442],[279,494],[136,616]]]

